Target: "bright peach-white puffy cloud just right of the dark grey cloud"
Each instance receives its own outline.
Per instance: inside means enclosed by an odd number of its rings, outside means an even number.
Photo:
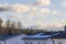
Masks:
[[[25,6],[25,4],[14,4],[13,6],[13,10],[16,11],[16,12],[28,12],[29,11],[29,7]]]

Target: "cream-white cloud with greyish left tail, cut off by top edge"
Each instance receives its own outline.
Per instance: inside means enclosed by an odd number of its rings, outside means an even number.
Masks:
[[[37,6],[37,7],[48,7],[51,4],[51,0],[35,0],[35,2],[29,2],[28,4]]]

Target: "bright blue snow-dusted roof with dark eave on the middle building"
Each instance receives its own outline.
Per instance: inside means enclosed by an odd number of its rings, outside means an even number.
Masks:
[[[22,40],[46,40],[50,38],[52,35],[43,35],[43,33],[36,34],[36,35],[30,35],[26,37],[23,37]]]

